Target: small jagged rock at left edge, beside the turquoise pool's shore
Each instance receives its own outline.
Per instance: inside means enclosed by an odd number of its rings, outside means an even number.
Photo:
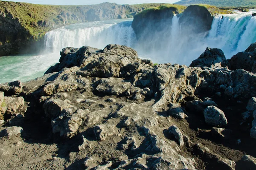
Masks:
[[[6,94],[20,94],[22,92],[22,87],[22,82],[17,80],[0,84],[0,91],[5,92]]]

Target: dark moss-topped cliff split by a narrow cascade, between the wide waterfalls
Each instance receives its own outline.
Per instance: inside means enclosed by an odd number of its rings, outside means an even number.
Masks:
[[[217,13],[222,11],[216,7],[211,7]],[[174,14],[180,14],[179,24],[181,33],[189,36],[189,34],[201,34],[209,31],[212,26],[213,15],[212,9],[205,6],[192,5],[185,8],[184,6],[175,6],[148,9],[134,16],[132,28],[137,39],[147,41],[150,32],[157,32],[172,27],[172,18]]]

